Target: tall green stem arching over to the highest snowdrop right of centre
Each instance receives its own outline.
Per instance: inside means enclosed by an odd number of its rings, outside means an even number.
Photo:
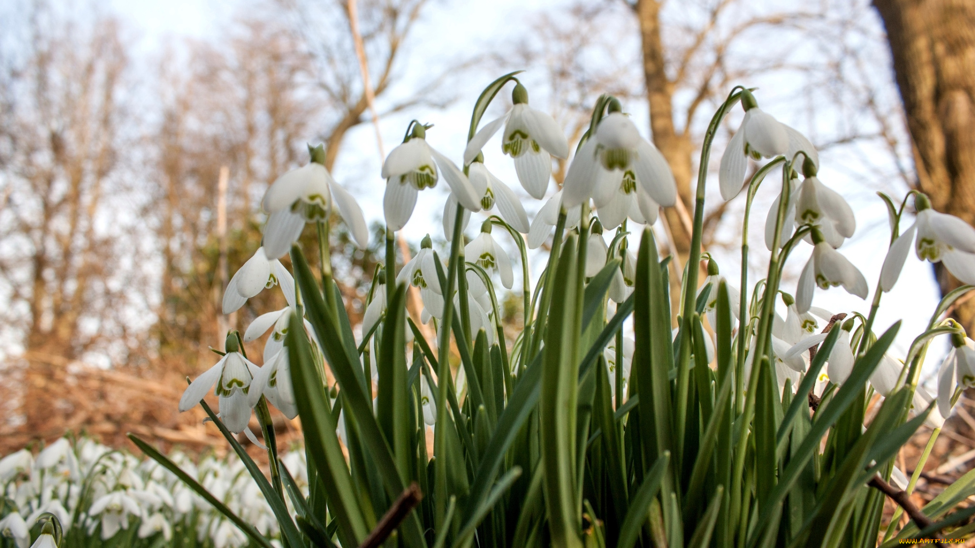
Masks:
[[[683,280],[683,312],[681,314],[683,318],[682,321],[684,323],[682,328],[683,333],[690,333],[690,318],[694,313],[694,304],[697,300],[694,297],[697,294],[697,274],[700,270],[699,263],[701,261],[701,237],[704,233],[704,194],[708,179],[711,145],[715,140],[715,135],[718,133],[718,127],[721,125],[724,115],[727,114],[731,107],[734,106],[741,98],[740,89],[740,86],[732,89],[731,94],[727,99],[724,100],[722,106],[718,109],[718,112],[715,113],[714,117],[711,119],[711,124],[708,125],[708,132],[704,136],[704,144],[701,146],[701,160],[698,164],[697,171],[697,193],[694,202],[694,229],[693,232],[691,232],[690,237],[690,254],[687,257],[687,274]],[[681,197],[678,196],[678,200],[680,199]],[[677,443],[675,462],[682,461],[681,455],[683,450],[683,430],[687,417],[687,388],[690,378],[690,339],[690,336],[681,337],[680,358],[677,362],[678,396],[677,413],[674,419]]]

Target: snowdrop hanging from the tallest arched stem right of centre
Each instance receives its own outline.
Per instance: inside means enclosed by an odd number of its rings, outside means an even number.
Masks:
[[[745,109],[745,117],[724,149],[721,169],[718,172],[719,186],[725,202],[741,192],[749,157],[761,160],[785,154],[789,150],[791,133],[798,133],[761,110],[748,90],[741,92],[741,105]]]

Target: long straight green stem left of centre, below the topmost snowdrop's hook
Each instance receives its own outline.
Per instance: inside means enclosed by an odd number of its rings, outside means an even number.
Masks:
[[[447,407],[448,386],[452,382],[446,382],[450,377],[450,324],[453,321],[453,289],[457,280],[457,271],[460,270],[458,259],[460,256],[460,240],[463,234],[464,208],[457,205],[457,213],[453,219],[453,238],[450,240],[450,258],[448,260],[447,288],[444,291],[444,319],[443,326],[439,332],[437,341],[437,423],[441,428],[434,433],[434,456],[437,464],[434,466],[435,472],[435,493],[434,517],[438,530],[446,528],[445,517],[447,514],[448,499],[448,478],[447,478],[447,437],[445,431],[449,427],[450,415]],[[387,250],[388,253],[388,250]],[[387,272],[387,277],[389,273]],[[388,279],[388,278],[387,278]]]

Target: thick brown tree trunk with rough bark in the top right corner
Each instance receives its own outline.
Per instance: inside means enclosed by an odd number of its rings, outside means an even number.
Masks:
[[[975,224],[975,2],[874,0],[887,30],[917,166],[936,211]],[[961,284],[934,267],[942,294]],[[975,299],[956,320],[975,333]]]

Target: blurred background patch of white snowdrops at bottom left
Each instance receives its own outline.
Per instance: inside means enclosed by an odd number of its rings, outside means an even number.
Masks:
[[[231,548],[252,544],[238,527],[246,524],[280,546],[271,507],[236,455],[194,461],[175,451],[169,461],[213,498],[155,460],[91,438],[61,438],[36,456],[25,449],[6,455],[0,459],[0,546]],[[304,452],[284,454],[282,461],[298,489],[307,489]],[[235,525],[221,508],[244,521]]]

